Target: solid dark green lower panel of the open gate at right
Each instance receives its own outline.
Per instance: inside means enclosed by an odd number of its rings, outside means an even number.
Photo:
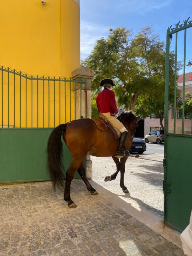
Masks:
[[[166,137],[164,221],[178,231],[189,224],[192,210],[192,137]]]

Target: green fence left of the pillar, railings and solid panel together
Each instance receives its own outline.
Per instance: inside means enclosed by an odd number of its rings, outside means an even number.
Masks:
[[[82,84],[86,87],[86,80],[28,76],[0,67],[0,183],[49,180],[48,137],[54,127],[81,116],[76,87],[81,102]],[[63,150],[67,170],[71,155],[64,142]]]

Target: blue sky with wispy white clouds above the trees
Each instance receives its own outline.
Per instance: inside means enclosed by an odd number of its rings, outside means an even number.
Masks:
[[[125,26],[134,36],[144,26],[153,26],[160,40],[166,41],[166,30],[178,21],[191,17],[190,0],[80,0],[81,60],[93,50],[96,40],[107,38],[109,28]],[[174,36],[170,49],[174,50]],[[184,32],[178,33],[178,60],[184,59]],[[187,30],[186,64],[192,60],[192,28]],[[186,72],[192,67],[186,66]]]

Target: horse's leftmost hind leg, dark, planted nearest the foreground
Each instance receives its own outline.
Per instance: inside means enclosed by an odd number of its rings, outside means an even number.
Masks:
[[[73,159],[68,170],[66,171],[64,200],[68,202],[68,206],[70,208],[77,207],[76,204],[70,198],[70,187],[71,187],[72,179],[74,178],[74,174],[76,170],[79,168],[81,162],[82,162],[82,159],[81,160]]]

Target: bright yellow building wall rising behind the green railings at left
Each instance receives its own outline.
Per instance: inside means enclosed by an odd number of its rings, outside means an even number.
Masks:
[[[22,70],[28,74],[66,76],[80,66],[80,7],[74,0],[1,0],[0,1],[0,65]],[[7,74],[3,80],[3,118],[8,123],[8,85]],[[2,78],[1,78],[2,79]],[[17,79],[15,93],[16,120],[20,112],[20,84]],[[9,79],[9,124],[13,124],[13,75]],[[66,106],[70,106],[70,89],[66,83]],[[42,82],[33,86],[33,105],[30,103],[31,82],[22,78],[21,85],[21,126],[25,126],[25,102],[27,98],[27,119],[31,120],[33,109],[33,126],[37,125],[37,105],[39,126],[42,126]],[[59,94],[58,83],[55,89],[56,124],[58,124]],[[48,82],[44,84],[44,92]],[[2,84],[0,81],[0,94]],[[64,83],[61,84],[61,95],[64,96]],[[48,95],[44,95],[44,118],[48,120]],[[73,92],[71,92],[73,110]],[[0,101],[2,98],[0,96]],[[50,85],[50,126],[53,126],[53,84]],[[61,101],[61,122],[69,119],[69,111],[64,116],[64,99]],[[38,104],[37,104],[38,103]],[[72,119],[73,117],[72,111]],[[45,120],[45,123],[47,122]],[[0,104],[0,124],[2,124],[2,106]],[[16,121],[16,127],[19,127]],[[28,127],[30,127],[30,122]],[[48,126],[46,123],[45,126]]]

